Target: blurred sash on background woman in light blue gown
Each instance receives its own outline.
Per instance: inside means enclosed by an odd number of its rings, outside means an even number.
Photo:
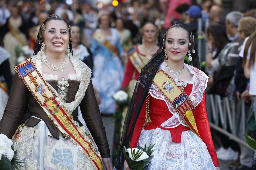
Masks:
[[[116,46],[114,46],[108,39],[106,39],[104,35],[95,31],[93,33],[93,38],[100,44],[102,44],[104,47],[108,48],[108,50],[113,52],[115,55],[119,56],[119,51],[117,50]]]

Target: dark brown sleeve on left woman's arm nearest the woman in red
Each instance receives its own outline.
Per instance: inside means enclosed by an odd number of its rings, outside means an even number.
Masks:
[[[82,117],[90,133],[92,134],[96,145],[98,146],[100,155],[102,158],[110,157],[107,135],[100,115],[100,109],[94,94],[92,80],[90,80],[84,98],[82,99],[79,106],[82,112]]]

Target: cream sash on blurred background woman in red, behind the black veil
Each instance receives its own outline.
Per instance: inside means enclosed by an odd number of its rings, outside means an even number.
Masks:
[[[129,59],[131,61],[131,63],[133,64],[133,66],[135,67],[135,69],[141,73],[141,69],[148,63],[148,61],[150,60],[150,58],[147,58],[146,56],[141,56],[135,49],[135,47],[130,48],[127,51],[127,54],[129,56]]]

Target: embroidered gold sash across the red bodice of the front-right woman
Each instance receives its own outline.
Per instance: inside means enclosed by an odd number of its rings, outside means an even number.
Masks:
[[[159,69],[156,73],[153,84],[161,90],[162,95],[169,99],[174,110],[184,120],[189,129],[200,137],[195,122],[195,107],[187,94],[177,87],[174,80],[162,69]]]

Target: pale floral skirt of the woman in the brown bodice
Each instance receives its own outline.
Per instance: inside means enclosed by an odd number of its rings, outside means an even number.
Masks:
[[[84,127],[80,127],[84,128]],[[44,121],[34,127],[20,126],[13,138],[20,170],[92,170],[87,157],[60,134],[52,137]]]

